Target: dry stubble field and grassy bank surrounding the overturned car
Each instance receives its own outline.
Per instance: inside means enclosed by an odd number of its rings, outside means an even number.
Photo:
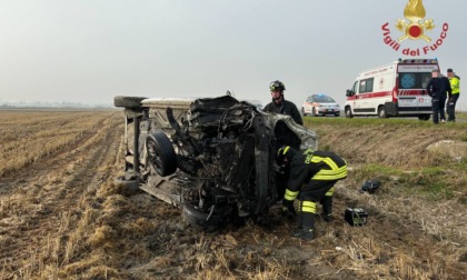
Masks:
[[[269,227],[199,231],[116,186],[123,121],[121,111],[0,111],[0,279],[467,278],[466,163],[425,151],[466,141],[467,123],[306,118],[350,168],[335,221],[318,218],[306,242],[276,208]],[[369,179],[381,188],[359,192]],[[364,207],[368,223],[347,224],[347,207]]]

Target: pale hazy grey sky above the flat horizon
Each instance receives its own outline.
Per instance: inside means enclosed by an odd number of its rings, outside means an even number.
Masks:
[[[327,92],[339,102],[357,73],[440,42],[438,58],[461,78],[467,110],[467,2],[425,0],[436,26],[425,40],[390,38],[408,0],[0,0],[0,102],[112,103],[113,96],[270,101]],[[440,39],[443,24],[446,38]]]

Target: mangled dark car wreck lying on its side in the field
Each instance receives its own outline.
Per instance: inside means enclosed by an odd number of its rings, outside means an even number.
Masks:
[[[289,116],[260,112],[231,96],[113,101],[126,117],[118,181],[179,207],[200,226],[267,213],[278,199],[278,147],[318,146],[315,131]]]

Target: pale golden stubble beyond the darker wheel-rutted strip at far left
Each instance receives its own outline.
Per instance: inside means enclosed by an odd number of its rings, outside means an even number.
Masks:
[[[98,114],[98,116],[96,116]],[[0,176],[54,154],[102,128],[102,112],[2,111]]]

